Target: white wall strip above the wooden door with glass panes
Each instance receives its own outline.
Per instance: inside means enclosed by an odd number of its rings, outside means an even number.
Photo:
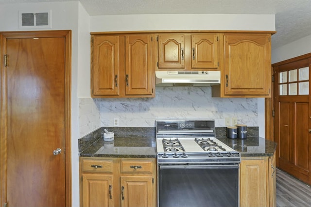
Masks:
[[[291,42],[271,52],[272,64],[311,52],[311,35]]]

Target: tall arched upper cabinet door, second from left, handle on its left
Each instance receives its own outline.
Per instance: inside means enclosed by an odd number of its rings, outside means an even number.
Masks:
[[[125,36],[125,95],[153,95],[151,35]]]

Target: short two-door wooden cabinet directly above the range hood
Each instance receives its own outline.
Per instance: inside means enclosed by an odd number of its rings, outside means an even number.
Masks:
[[[219,34],[159,34],[157,70],[218,70]]]

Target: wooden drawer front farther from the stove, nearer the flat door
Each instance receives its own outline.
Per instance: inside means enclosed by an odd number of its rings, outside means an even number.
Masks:
[[[82,171],[83,172],[112,173],[113,172],[113,160],[83,159],[82,160]]]

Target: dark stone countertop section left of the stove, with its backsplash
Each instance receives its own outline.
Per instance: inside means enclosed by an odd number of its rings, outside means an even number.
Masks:
[[[115,133],[106,142],[104,129]],[[156,158],[155,127],[102,127],[79,139],[80,157]]]

